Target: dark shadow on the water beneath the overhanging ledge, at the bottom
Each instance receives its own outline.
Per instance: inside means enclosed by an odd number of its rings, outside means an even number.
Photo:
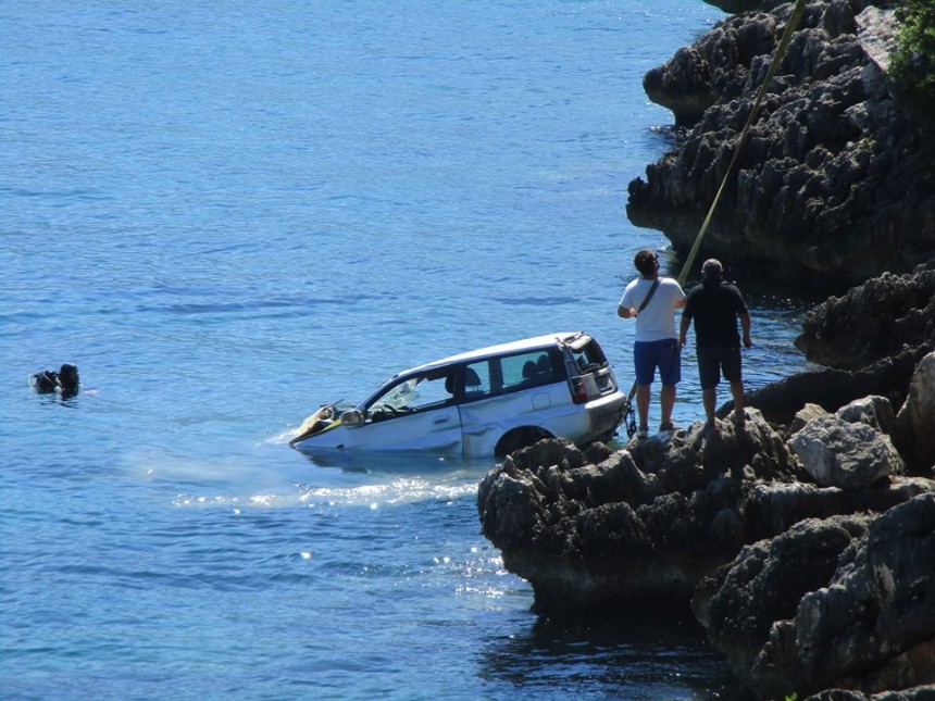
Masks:
[[[578,699],[745,698],[690,613],[671,606],[540,617],[527,630],[489,640],[479,675],[541,697],[561,689]]]

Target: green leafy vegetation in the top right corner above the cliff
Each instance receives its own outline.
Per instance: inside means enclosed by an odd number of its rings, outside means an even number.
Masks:
[[[901,26],[890,72],[914,102],[935,108],[935,0],[901,0],[896,17]]]

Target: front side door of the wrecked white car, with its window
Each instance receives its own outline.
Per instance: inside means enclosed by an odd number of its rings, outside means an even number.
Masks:
[[[362,425],[348,427],[346,447],[461,454],[453,381],[438,370],[400,378],[367,403]]]

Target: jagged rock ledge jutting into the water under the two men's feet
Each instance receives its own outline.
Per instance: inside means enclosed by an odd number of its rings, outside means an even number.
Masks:
[[[875,489],[807,484],[759,412],[587,454],[559,441],[516,451],[477,490],[484,535],[535,592],[539,612],[687,602],[740,548],[805,518],[885,511],[933,489],[900,477]],[[538,459],[536,458],[538,456]]]

